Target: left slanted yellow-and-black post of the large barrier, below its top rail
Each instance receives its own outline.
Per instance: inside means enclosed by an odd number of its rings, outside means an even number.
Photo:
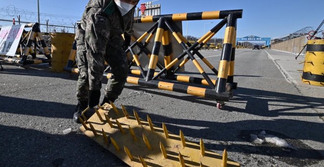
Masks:
[[[148,71],[146,74],[146,81],[152,80],[158,62],[158,58],[159,58],[158,56],[159,56],[161,42],[162,42],[162,35],[165,27],[164,19],[160,18],[158,23],[159,25],[157,29],[157,34],[155,35],[153,51],[148,65]]]

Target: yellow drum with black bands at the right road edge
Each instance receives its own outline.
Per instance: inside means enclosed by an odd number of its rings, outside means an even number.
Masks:
[[[324,39],[308,40],[302,82],[324,86]]]

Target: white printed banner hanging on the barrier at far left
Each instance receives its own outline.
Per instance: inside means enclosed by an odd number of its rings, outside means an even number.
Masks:
[[[15,56],[25,25],[1,27],[0,55]]]

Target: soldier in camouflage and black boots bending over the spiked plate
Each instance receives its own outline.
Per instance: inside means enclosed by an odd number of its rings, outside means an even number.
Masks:
[[[125,49],[133,34],[134,10],[139,0],[89,0],[77,28],[78,105],[73,120],[81,112],[99,104],[105,61],[112,77],[108,79],[101,105],[114,102],[121,94],[128,74]],[[124,34],[125,40],[122,39]]]

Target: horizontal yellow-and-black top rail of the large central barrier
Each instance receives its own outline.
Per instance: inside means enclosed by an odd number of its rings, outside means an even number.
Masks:
[[[187,20],[211,20],[211,19],[224,19],[229,14],[233,14],[236,18],[242,18],[243,10],[222,10],[222,11],[209,11],[209,12],[196,12],[196,13],[180,13],[180,14],[167,14],[157,16],[143,16],[135,18],[135,23],[148,23],[158,22],[160,18],[167,21],[187,21]]]

